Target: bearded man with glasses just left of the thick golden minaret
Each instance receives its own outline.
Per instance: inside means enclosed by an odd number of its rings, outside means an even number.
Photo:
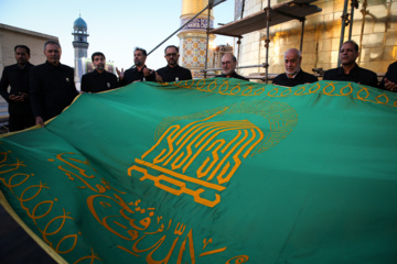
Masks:
[[[164,52],[168,65],[155,72],[155,80],[158,82],[170,82],[192,79],[191,70],[178,65],[178,59],[180,57],[179,48],[174,45],[170,45],[165,47]]]

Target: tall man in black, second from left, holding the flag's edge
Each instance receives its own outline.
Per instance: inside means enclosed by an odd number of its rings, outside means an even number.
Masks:
[[[32,68],[30,76],[30,96],[35,123],[60,114],[78,95],[74,82],[73,68],[60,63],[61,45],[55,41],[44,44],[46,62]]]

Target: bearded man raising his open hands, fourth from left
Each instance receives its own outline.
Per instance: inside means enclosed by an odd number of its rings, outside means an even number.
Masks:
[[[131,68],[127,69],[126,73],[121,68],[121,72],[116,68],[117,75],[119,76],[119,86],[126,86],[133,81],[142,80],[155,80],[154,72],[146,66],[147,52],[141,47],[136,47],[133,51],[133,64]]]

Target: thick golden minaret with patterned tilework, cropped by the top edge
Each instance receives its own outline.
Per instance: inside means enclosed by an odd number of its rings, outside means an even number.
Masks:
[[[208,0],[183,0],[181,25],[200,13],[207,4]],[[208,22],[211,28],[213,28],[213,12],[211,11],[208,21],[208,10],[206,10],[193,21],[191,21],[178,34],[180,38],[180,64],[181,66],[192,70],[193,78],[203,78],[203,73],[200,73],[200,70],[205,67],[206,29]],[[210,35],[210,44],[214,41],[214,38],[215,35]],[[210,45],[210,47],[212,45]],[[213,53],[211,52],[211,48],[208,48],[208,68],[213,67],[212,56]]]

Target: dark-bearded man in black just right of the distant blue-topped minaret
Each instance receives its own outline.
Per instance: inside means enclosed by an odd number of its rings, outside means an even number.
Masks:
[[[82,77],[82,91],[99,92],[118,87],[116,75],[105,70],[105,55],[100,52],[93,53],[94,70]]]

